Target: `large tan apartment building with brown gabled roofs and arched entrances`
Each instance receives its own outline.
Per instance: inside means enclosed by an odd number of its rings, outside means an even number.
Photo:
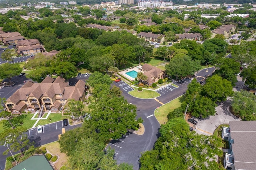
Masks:
[[[69,86],[60,76],[56,79],[46,77],[42,83],[28,81],[7,99],[5,107],[12,114],[21,114],[23,111],[35,113],[41,110],[58,113],[68,99],[83,101],[86,90],[82,80],[78,80],[74,86]]]

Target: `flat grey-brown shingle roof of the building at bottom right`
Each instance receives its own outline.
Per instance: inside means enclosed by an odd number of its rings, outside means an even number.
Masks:
[[[236,169],[254,170],[256,165],[256,121],[229,122]]]

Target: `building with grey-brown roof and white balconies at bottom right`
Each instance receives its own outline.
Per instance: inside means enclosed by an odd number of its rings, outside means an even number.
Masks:
[[[231,170],[254,170],[256,165],[256,121],[229,122],[223,127],[222,139],[228,140],[224,168]]]

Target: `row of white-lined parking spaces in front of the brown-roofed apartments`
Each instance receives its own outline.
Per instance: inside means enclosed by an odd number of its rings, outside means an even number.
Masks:
[[[64,128],[64,126],[63,126],[62,121],[58,121],[58,122],[50,123],[50,124],[47,124],[47,125],[42,125],[42,128],[43,128],[42,134],[49,133],[49,132],[54,132],[54,131],[59,132],[60,134],[62,134],[62,128]],[[31,128],[31,129],[28,130],[28,137],[37,136],[37,135],[38,135],[37,127]]]

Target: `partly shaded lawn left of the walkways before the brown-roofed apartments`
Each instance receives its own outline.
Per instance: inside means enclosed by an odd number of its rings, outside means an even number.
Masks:
[[[20,116],[13,117],[11,119],[11,123],[15,127],[22,126],[27,129],[32,128],[34,123],[36,123],[36,120],[30,120],[33,117],[33,115],[34,114],[31,113],[31,114],[22,114]],[[12,126],[7,120],[0,121],[0,132],[8,128],[12,128]]]

